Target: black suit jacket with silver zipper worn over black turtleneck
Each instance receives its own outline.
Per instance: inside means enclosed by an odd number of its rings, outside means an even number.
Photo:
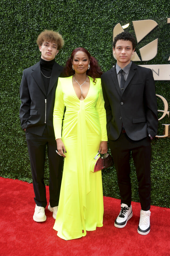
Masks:
[[[23,71],[20,85],[20,121],[26,131],[42,136],[47,125],[50,135],[54,136],[53,109],[58,77],[63,67],[54,62],[48,93],[46,94],[40,61]]]

